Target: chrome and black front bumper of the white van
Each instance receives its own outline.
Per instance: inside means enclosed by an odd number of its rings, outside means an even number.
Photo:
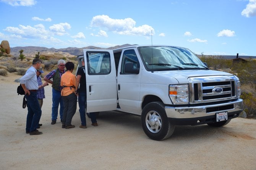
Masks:
[[[198,125],[216,122],[216,113],[227,112],[228,119],[239,116],[243,111],[243,100],[237,99],[214,105],[172,107],[165,106],[165,112],[173,125]]]

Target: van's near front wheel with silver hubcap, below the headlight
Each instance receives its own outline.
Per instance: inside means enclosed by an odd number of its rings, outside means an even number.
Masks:
[[[146,135],[153,140],[167,139],[175,129],[166,116],[162,102],[151,102],[143,108],[141,125]]]

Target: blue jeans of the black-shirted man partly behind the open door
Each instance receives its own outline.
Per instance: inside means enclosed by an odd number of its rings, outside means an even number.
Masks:
[[[79,105],[79,113],[81,118],[81,125],[86,126],[86,117],[85,117],[85,109],[87,106],[86,103],[86,92],[79,92],[78,96],[78,105]],[[96,121],[96,115],[94,113],[90,113],[92,123]]]

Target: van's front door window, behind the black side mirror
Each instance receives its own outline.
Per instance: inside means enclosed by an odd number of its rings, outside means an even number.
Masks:
[[[132,74],[132,73],[125,72],[125,64],[127,64],[127,63],[133,63],[133,69],[139,70],[139,60],[138,60],[138,57],[136,56],[136,53],[133,49],[129,49],[129,50],[126,50],[123,52],[120,74]]]

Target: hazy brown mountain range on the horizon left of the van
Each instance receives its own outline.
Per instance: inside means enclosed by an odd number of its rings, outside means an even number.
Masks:
[[[83,48],[76,48],[76,47],[68,47],[68,48],[46,48],[46,47],[37,47],[37,46],[26,46],[26,47],[13,47],[11,48],[11,55],[18,57],[19,51],[22,49],[23,54],[26,57],[34,57],[37,52],[40,52],[40,54],[53,54],[53,53],[60,53],[64,56],[71,57],[71,56],[79,56],[83,54],[83,49],[117,49],[117,48],[123,48],[131,46],[131,44],[123,44],[120,46],[114,46],[110,48],[100,48],[96,46],[87,46]]]

